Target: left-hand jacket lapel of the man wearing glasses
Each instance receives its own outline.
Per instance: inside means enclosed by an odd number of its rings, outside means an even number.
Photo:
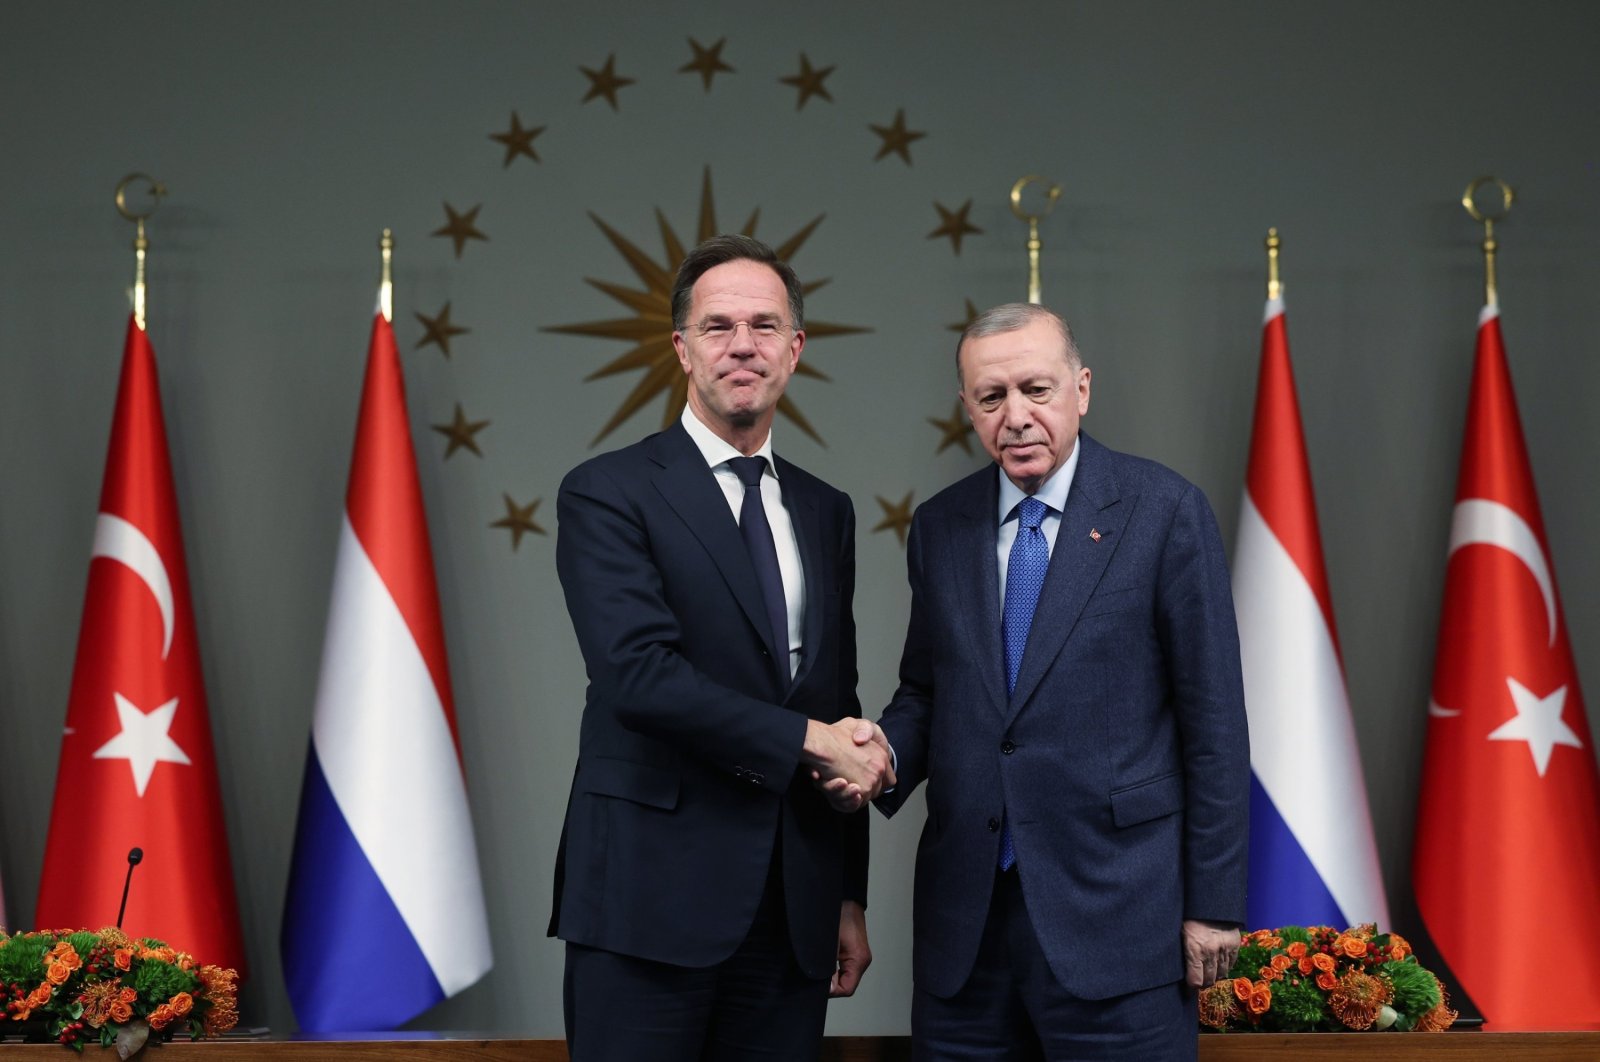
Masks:
[[[762,637],[773,661],[787,662],[789,648],[784,646],[779,654],[773,641],[762,584],[755,581],[755,565],[750,563],[750,552],[744,547],[739,525],[728,509],[728,496],[722,493],[694,440],[682,424],[674,424],[656,435],[650,456],[661,465],[654,475],[656,489],[710,553],[712,563],[717,565],[717,571],[722,573],[728,590]]]

